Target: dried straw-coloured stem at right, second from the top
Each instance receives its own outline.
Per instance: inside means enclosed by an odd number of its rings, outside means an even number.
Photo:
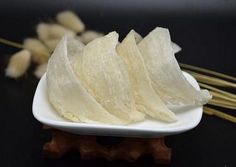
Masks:
[[[229,82],[229,81],[224,81],[219,78],[210,77],[210,76],[203,75],[203,74],[198,74],[198,73],[190,71],[190,70],[184,70],[184,71],[193,75],[199,82],[203,82],[203,83],[215,85],[215,86],[221,86],[221,87],[236,88],[236,84]]]

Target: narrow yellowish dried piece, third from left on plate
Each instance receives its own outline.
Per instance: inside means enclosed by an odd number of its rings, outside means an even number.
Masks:
[[[155,119],[173,122],[176,120],[175,114],[166,107],[152,88],[148,71],[137,46],[138,39],[141,39],[141,36],[131,30],[117,47],[117,52],[125,62],[129,73],[137,109]]]

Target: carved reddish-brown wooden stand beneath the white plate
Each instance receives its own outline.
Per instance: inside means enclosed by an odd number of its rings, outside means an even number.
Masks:
[[[171,160],[171,149],[165,145],[164,138],[124,138],[120,143],[107,147],[99,144],[96,136],[74,135],[51,128],[46,129],[50,130],[52,139],[44,145],[43,151],[46,156],[52,158],[60,158],[68,152],[78,151],[82,159],[135,161],[141,156],[151,155],[158,164],[168,164]]]

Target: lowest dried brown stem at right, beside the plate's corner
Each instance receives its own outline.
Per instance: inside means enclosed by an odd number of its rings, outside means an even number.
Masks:
[[[223,119],[228,120],[228,121],[230,121],[230,122],[236,123],[236,117],[231,116],[231,115],[226,114],[226,113],[223,113],[223,112],[221,112],[221,111],[219,111],[219,110],[212,109],[212,108],[209,108],[209,107],[204,106],[204,107],[203,107],[203,111],[204,111],[205,114],[208,114],[208,115],[215,115],[215,116],[217,116],[217,117],[219,117],[219,118],[223,118]]]

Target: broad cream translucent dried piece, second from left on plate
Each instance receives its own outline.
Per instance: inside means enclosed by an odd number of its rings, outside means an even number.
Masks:
[[[118,34],[111,32],[87,44],[76,58],[75,71],[95,99],[126,122],[144,119],[135,107],[124,62],[117,55]]]

